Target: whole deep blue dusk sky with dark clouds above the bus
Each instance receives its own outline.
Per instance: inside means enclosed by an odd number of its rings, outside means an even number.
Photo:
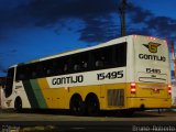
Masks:
[[[127,1],[128,35],[176,41],[176,0]],[[0,0],[0,76],[18,63],[120,37],[120,2]]]

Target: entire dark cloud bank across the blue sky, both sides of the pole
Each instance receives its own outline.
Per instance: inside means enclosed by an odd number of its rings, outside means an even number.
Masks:
[[[0,10],[0,41],[7,40],[8,32],[19,28],[53,28],[59,33],[63,28],[69,29],[70,23],[66,21],[72,18],[82,23],[77,29],[80,41],[105,42],[120,36],[120,2],[121,0],[28,0],[15,8]],[[176,20],[156,16],[131,2],[127,9],[127,34],[176,36],[172,32],[176,29]]]

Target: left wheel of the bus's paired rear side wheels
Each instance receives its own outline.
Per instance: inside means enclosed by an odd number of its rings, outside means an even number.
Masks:
[[[75,116],[84,116],[85,114],[85,105],[80,96],[76,95],[70,100],[70,112]]]

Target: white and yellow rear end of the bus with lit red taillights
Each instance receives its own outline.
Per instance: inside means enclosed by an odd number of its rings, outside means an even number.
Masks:
[[[166,41],[133,38],[133,77],[129,85],[128,108],[170,108],[170,69]]]

